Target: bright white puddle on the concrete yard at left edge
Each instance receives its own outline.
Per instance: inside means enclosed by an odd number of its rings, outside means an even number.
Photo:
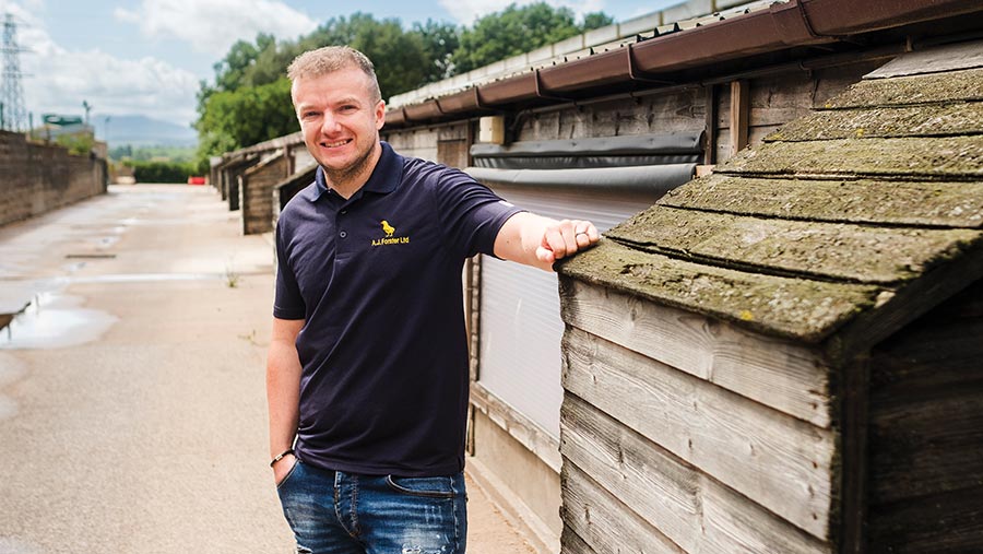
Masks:
[[[42,293],[0,330],[0,350],[74,346],[98,339],[117,321],[115,316],[82,308],[81,296]]]

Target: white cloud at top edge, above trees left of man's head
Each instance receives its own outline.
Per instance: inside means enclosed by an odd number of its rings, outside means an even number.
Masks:
[[[137,10],[117,8],[114,15],[140,26],[150,37],[176,37],[194,49],[225,56],[238,39],[257,33],[294,39],[317,28],[316,21],[276,0],[143,0]]]

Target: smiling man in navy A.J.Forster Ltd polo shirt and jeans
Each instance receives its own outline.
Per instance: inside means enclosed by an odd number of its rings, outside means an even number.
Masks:
[[[271,467],[297,552],[463,553],[463,262],[484,252],[548,271],[597,229],[393,152],[356,50],[308,51],[288,76],[320,165],[277,224],[267,367]]]

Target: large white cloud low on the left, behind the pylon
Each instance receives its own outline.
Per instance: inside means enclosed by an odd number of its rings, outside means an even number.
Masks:
[[[3,2],[17,28],[24,104],[38,125],[43,114],[82,115],[82,101],[94,106],[93,117],[142,114],[185,125],[194,119],[198,76],[154,59],[121,59],[102,50],[68,50],[50,36],[42,20],[24,3]]]

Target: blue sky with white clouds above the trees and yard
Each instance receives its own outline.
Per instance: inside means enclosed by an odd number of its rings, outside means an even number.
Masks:
[[[0,0],[0,19],[13,15],[25,107],[83,116],[104,133],[106,117],[144,115],[177,125],[196,119],[201,81],[238,39],[257,33],[296,39],[320,23],[355,11],[398,17],[405,28],[427,19],[470,25],[512,1],[531,0]],[[578,16],[604,11],[615,21],[683,0],[547,0]],[[339,4],[353,8],[339,9]]]

